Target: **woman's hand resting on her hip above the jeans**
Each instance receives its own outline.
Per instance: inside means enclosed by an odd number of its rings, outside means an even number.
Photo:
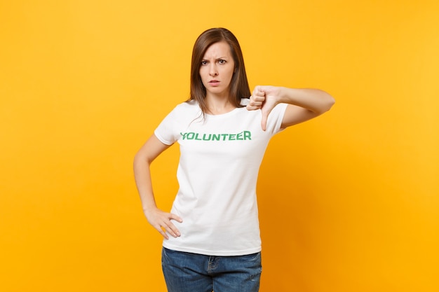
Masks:
[[[145,210],[144,214],[147,217],[149,224],[156,228],[156,230],[160,232],[160,234],[166,239],[169,239],[168,235],[166,234],[167,232],[173,237],[180,236],[180,231],[171,222],[171,220],[175,220],[182,223],[183,220],[179,216],[163,212],[158,208]]]

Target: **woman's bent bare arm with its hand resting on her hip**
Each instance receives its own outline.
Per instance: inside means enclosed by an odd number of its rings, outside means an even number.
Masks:
[[[163,144],[157,139],[156,135],[151,135],[148,141],[140,148],[134,158],[134,177],[144,215],[163,237],[168,239],[167,233],[173,237],[179,237],[180,231],[175,227],[171,220],[182,222],[182,218],[175,214],[166,213],[157,208],[154,200],[154,192],[151,183],[150,165],[163,151],[170,145]]]

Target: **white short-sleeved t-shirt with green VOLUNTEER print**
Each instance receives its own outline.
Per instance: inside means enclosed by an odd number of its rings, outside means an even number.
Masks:
[[[242,99],[247,104],[249,99]],[[156,128],[164,144],[180,144],[179,190],[171,213],[181,236],[163,246],[210,256],[241,256],[261,251],[256,183],[269,140],[281,131],[287,104],[269,115],[237,108],[205,119],[195,101],[179,104]]]

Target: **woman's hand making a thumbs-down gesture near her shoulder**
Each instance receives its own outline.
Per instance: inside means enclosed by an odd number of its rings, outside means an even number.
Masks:
[[[247,109],[249,111],[261,109],[261,127],[264,131],[266,130],[266,121],[269,118],[269,114],[273,110],[274,106],[279,103],[278,100],[280,95],[281,88],[276,86],[258,85],[252,92],[252,96],[250,97],[250,102],[247,105]]]

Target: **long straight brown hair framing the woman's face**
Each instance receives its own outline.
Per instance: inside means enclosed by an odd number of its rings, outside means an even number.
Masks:
[[[212,44],[220,41],[229,44],[235,62],[235,71],[229,86],[229,101],[236,107],[242,107],[241,98],[250,97],[251,95],[247,74],[245,73],[243,53],[238,39],[228,29],[222,27],[208,29],[196,39],[191,61],[191,94],[189,101],[196,100],[198,102],[201,111],[203,111],[203,116],[208,111],[208,107],[205,102],[206,90],[200,77],[201,60],[203,60],[205,51]]]

